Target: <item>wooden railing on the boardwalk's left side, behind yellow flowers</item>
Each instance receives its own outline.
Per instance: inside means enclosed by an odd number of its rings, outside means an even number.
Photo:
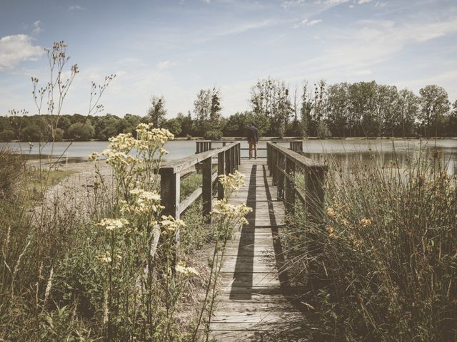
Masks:
[[[226,146],[215,150],[207,150],[196,155],[166,162],[161,166],[159,174],[161,176],[161,204],[165,207],[162,211],[164,215],[171,215],[179,219],[180,215],[200,196],[203,202],[203,214],[209,217],[212,209],[213,185],[219,175],[233,173],[240,164],[240,143],[229,142]],[[217,159],[217,172],[212,173],[213,158]],[[180,200],[181,172],[201,165],[202,185],[191,193],[189,197]],[[218,198],[224,197],[224,188],[218,182]]]

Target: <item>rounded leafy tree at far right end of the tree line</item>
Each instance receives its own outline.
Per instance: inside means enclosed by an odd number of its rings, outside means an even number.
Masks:
[[[429,85],[419,90],[419,94],[421,95],[419,121],[424,133],[438,135],[438,125],[451,109],[448,93],[442,87]]]

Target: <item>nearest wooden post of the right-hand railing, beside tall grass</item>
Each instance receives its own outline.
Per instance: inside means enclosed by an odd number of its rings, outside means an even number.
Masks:
[[[306,207],[308,215],[314,222],[323,219],[323,180],[326,167],[316,166],[306,168]]]

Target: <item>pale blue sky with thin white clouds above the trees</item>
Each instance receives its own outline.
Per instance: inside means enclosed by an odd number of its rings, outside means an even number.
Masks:
[[[36,113],[31,76],[49,80],[44,48],[61,40],[80,70],[69,114],[86,115],[91,81],[112,73],[101,103],[119,116],[146,115],[154,94],[173,118],[214,87],[228,116],[268,76],[457,98],[457,0],[0,0],[0,115]]]

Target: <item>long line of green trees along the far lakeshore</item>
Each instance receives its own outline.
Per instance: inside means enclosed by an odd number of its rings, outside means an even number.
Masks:
[[[134,133],[139,123],[154,123],[177,137],[219,139],[241,137],[248,125],[263,136],[293,137],[418,137],[456,136],[457,100],[451,105],[448,93],[429,85],[416,95],[411,90],[379,85],[375,81],[336,83],[326,81],[289,88],[273,78],[251,88],[251,110],[221,115],[221,92],[202,89],[193,110],[167,119],[166,100],[153,95],[146,116],[126,114],[26,115],[12,110],[0,116],[0,141],[108,140],[119,133]],[[56,125],[55,125],[56,124]]]

